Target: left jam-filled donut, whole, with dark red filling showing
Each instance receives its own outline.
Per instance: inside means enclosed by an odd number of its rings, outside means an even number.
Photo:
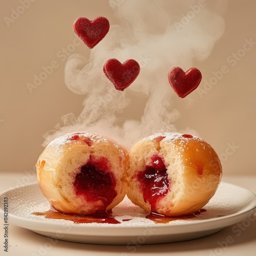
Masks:
[[[126,162],[126,151],[111,139],[73,133],[48,144],[36,163],[37,179],[53,209],[90,215],[123,200]]]

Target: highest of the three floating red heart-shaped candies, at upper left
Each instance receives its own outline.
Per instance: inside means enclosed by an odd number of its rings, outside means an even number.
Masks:
[[[96,17],[93,20],[79,17],[75,20],[73,29],[84,44],[92,49],[109,32],[110,23],[107,18],[102,16]]]

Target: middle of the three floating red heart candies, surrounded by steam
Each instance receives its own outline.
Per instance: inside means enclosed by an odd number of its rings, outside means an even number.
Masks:
[[[116,90],[123,91],[139,75],[140,65],[134,59],[128,59],[123,63],[117,59],[109,59],[106,61],[103,71],[114,84]]]

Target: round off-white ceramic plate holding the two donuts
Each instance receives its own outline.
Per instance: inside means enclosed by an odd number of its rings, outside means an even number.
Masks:
[[[113,209],[120,224],[76,224],[32,215],[47,211],[50,205],[38,184],[8,190],[0,195],[0,213],[4,216],[4,198],[8,198],[9,224],[27,228],[43,236],[92,244],[158,244],[196,239],[250,218],[256,212],[256,195],[249,190],[221,182],[215,196],[196,218],[155,223],[146,212],[125,198]],[[131,219],[124,221],[124,219]]]

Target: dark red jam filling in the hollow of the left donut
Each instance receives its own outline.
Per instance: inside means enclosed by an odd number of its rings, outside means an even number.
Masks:
[[[88,202],[102,201],[96,211],[105,211],[117,196],[116,180],[111,173],[108,159],[93,158],[90,156],[87,164],[81,167],[81,172],[76,175],[74,187],[77,196],[83,196]]]

